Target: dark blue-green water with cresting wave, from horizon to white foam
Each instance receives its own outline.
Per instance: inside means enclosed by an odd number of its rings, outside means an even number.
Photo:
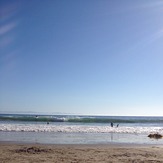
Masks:
[[[73,122],[73,123],[163,123],[163,117],[0,115],[0,121]]]

